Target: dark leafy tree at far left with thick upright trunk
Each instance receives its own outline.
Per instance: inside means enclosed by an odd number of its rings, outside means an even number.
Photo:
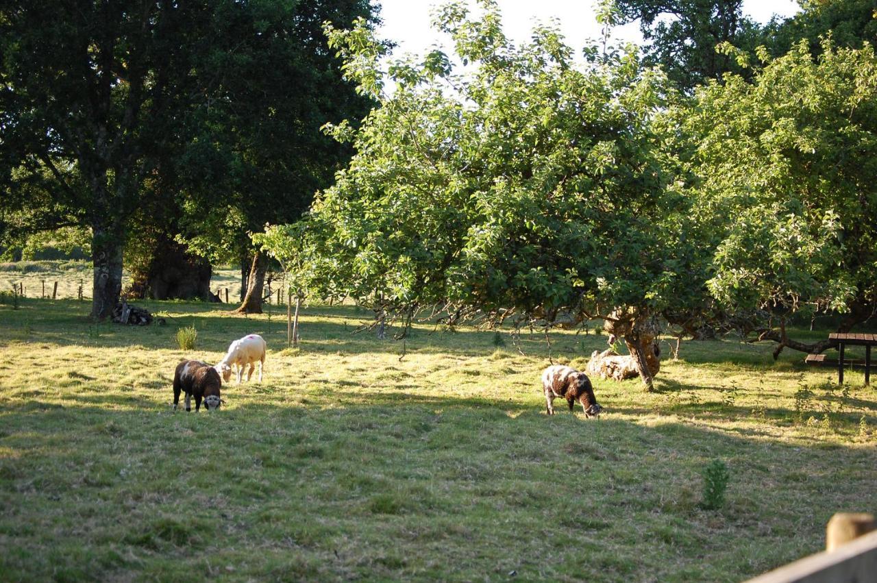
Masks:
[[[88,226],[91,316],[118,301],[125,224],[187,95],[203,3],[0,3],[4,215]]]

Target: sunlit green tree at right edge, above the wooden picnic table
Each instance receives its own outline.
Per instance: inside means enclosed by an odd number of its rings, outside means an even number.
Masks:
[[[806,39],[752,83],[737,75],[698,89],[677,112],[702,231],[715,233],[709,289],[724,306],[764,309],[780,330],[759,338],[805,352],[831,342],[788,338],[800,310],[845,314],[838,331],[877,308],[877,60],[873,47],[820,55]],[[724,220],[722,217],[733,217]]]

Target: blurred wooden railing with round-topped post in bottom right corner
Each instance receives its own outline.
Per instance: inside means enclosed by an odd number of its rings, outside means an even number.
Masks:
[[[877,581],[873,515],[836,514],[826,529],[827,551],[766,572],[747,583],[864,583]]]

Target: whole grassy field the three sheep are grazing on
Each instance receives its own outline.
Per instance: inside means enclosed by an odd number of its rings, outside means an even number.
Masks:
[[[281,308],[139,305],[168,325],[0,305],[0,579],[736,581],[877,506],[874,389],[770,345],[685,342],[652,394],[595,380],[594,421],[545,416],[538,336],[521,355],[424,324],[400,359],[351,334],[364,312],[313,307],[293,351]],[[215,362],[251,332],[261,385],[171,411],[179,359]],[[558,332],[553,358],[583,366],[604,345]],[[714,459],[731,478],[706,510]]]

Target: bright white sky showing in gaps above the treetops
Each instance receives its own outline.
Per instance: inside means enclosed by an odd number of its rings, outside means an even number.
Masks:
[[[398,45],[394,55],[403,53],[422,54],[446,39],[430,28],[431,8],[440,0],[378,0],[381,4],[383,25],[378,30],[382,39]],[[530,39],[532,26],[560,19],[560,30],[567,44],[578,52],[588,39],[600,38],[600,25],[594,14],[596,0],[498,0],[503,11],[503,31],[510,39],[520,43]],[[744,0],[743,12],[760,23],[766,23],[777,14],[789,17],[799,10],[794,0]],[[612,38],[618,41],[639,43],[638,23],[616,27]]]

